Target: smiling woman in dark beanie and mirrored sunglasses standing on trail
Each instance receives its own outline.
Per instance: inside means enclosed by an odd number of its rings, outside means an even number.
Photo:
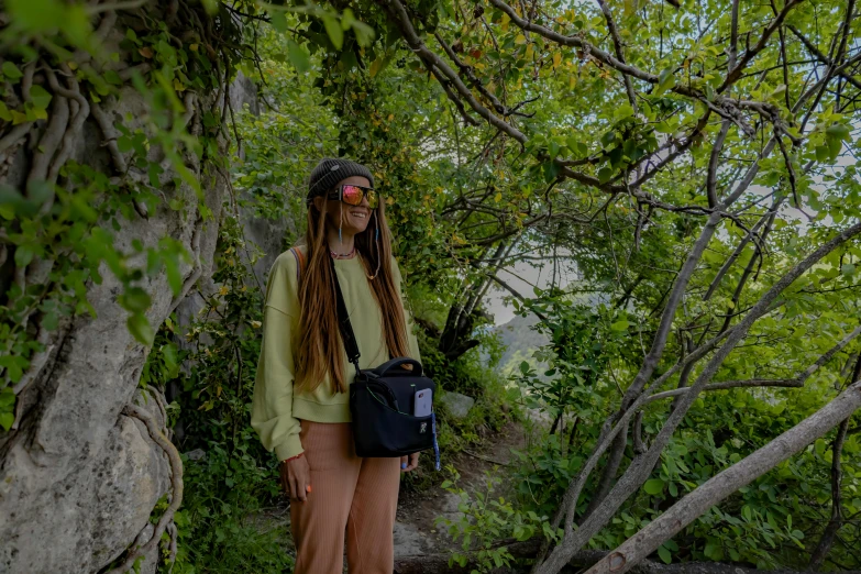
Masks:
[[[282,461],[296,574],[341,573],[345,534],[351,573],[391,574],[399,473],[418,464],[418,453],[361,459],[353,443],[352,372],[333,282],[343,292],[362,368],[393,356],[420,358],[373,184],[363,165],[322,159],[309,181],[305,244],[278,256],[266,285],[251,423]]]

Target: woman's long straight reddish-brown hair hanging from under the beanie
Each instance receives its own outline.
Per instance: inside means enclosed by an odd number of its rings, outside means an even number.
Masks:
[[[371,284],[371,291],[383,316],[383,333],[389,355],[406,356],[407,323],[404,307],[395,288],[391,273],[391,233],[386,224],[385,202],[372,211],[367,229],[355,235],[355,249],[365,273],[371,276],[379,265],[379,273]],[[378,238],[377,238],[378,230]],[[299,284],[299,341],[295,349],[296,386],[312,391],[329,374],[332,394],[346,393],[349,383],[344,369],[343,343],[338,330],[334,292],[336,280],[329,263],[325,211],[310,203],[305,245],[308,264]],[[378,239],[378,241],[375,241]]]

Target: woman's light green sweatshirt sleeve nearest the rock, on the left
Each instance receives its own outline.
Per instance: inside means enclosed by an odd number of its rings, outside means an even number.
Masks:
[[[299,419],[292,416],[291,334],[298,327],[296,260],[288,251],[272,266],[263,312],[263,345],[252,397],[251,426],[279,461],[302,452]]]

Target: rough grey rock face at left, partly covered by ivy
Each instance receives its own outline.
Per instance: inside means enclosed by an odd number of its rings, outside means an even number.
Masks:
[[[113,37],[114,45],[121,37]],[[130,114],[135,120],[125,123],[132,130],[147,112],[131,88],[100,106],[114,122]],[[189,131],[201,129],[201,110],[211,107],[211,98],[196,101]],[[73,158],[109,172],[111,159],[93,117],[81,134]],[[20,146],[9,163],[25,169],[30,153]],[[161,161],[157,148],[151,154]],[[155,247],[163,238],[173,238],[195,260],[180,267],[190,287],[198,277],[211,275],[227,185],[195,157],[188,156],[187,165],[199,177],[202,202],[213,217],[203,221],[190,188],[168,185],[163,189],[167,199],[178,198],[186,209],[172,210],[165,201],[147,219],[123,221],[114,245],[131,253],[133,239]],[[10,170],[0,183],[21,187],[24,169]],[[169,180],[174,175],[168,170],[163,176]],[[0,573],[100,571],[146,527],[153,507],[169,487],[169,465],[162,449],[140,421],[121,413],[139,393],[148,349],[129,333],[128,312],[117,303],[122,285],[106,265],[99,271],[102,283],[89,285],[87,294],[96,318],[77,316],[53,332],[42,367],[18,397],[18,428],[0,432]],[[140,286],[152,297],[146,316],[157,329],[181,297],[174,297],[164,272]],[[155,397],[140,404],[164,423]],[[147,570],[153,566],[145,565]]]

